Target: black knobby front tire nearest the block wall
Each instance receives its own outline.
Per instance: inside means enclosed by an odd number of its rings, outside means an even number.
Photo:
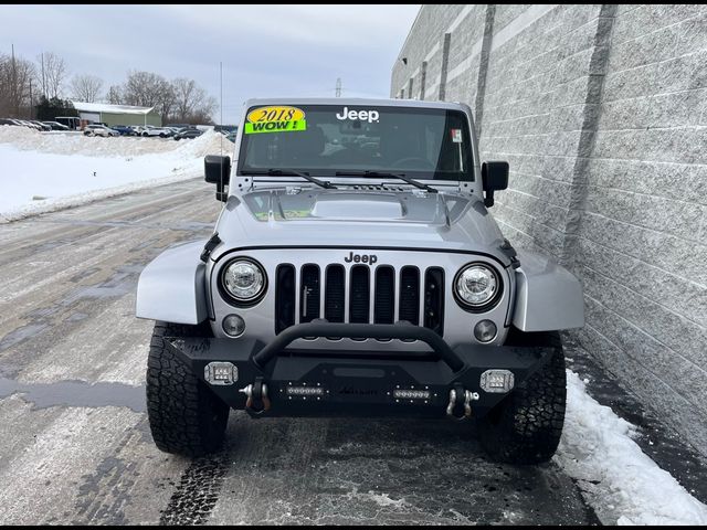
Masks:
[[[477,421],[481,444],[498,462],[547,462],[557,451],[564,423],[567,374],[562,341],[557,331],[514,330],[507,343],[550,346],[557,350],[545,367]]]

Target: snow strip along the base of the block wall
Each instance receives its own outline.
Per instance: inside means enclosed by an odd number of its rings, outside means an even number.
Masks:
[[[647,457],[633,425],[590,398],[567,372],[567,417],[556,462],[604,523],[707,524],[707,506]]]

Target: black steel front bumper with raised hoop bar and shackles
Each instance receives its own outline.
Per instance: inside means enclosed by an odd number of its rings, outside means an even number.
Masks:
[[[293,340],[312,337],[379,339],[381,349],[324,353],[287,349]],[[433,331],[407,324],[302,324],[287,328],[267,346],[249,339],[167,339],[168,347],[221,400],[253,416],[481,417],[508,395],[484,391],[484,372],[507,370],[518,386],[556,353],[550,347],[469,343],[452,349]],[[387,351],[388,340],[421,340],[432,351]],[[232,363],[238,379],[226,385],[209,383],[204,369],[211,362]]]

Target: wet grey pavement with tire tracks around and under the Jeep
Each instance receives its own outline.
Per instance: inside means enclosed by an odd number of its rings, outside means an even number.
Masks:
[[[145,415],[141,268],[205,239],[199,181],[0,224],[0,523],[598,523],[552,463],[490,463],[469,424],[253,421],[189,460]]]

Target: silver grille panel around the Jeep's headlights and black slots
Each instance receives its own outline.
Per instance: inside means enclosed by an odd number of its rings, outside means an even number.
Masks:
[[[473,328],[481,319],[490,319],[498,327],[498,336],[489,343],[490,346],[502,346],[506,339],[508,326],[511,322],[514,306],[510,304],[510,298],[516,288],[516,275],[509,267],[505,267],[503,262],[495,258],[489,254],[482,254],[476,252],[460,252],[460,251],[442,251],[442,250],[413,250],[413,248],[379,248],[379,247],[352,247],[355,251],[361,254],[370,254],[377,256],[377,263],[371,267],[371,274],[374,274],[377,267],[382,265],[391,265],[395,269],[395,320],[404,320],[400,318],[400,271],[403,267],[413,267],[420,271],[421,278],[424,277],[424,273],[430,267],[440,267],[444,269],[445,278],[450,282],[456,272],[471,261],[483,262],[494,267],[504,282],[504,293],[499,303],[488,312],[484,315],[474,315],[463,310],[456,303],[451,290],[451,284],[445,286],[445,303],[444,303],[444,340],[450,347],[455,348],[461,344],[467,344],[471,341],[475,341],[473,337]],[[327,296],[324,292],[324,274],[328,267],[339,267],[348,275],[349,269],[355,263],[347,262],[351,248],[349,247],[330,247],[330,246],[307,246],[306,248],[283,248],[283,247],[263,247],[263,248],[249,248],[247,255],[257,259],[267,272],[270,278],[268,289],[266,296],[255,306],[250,308],[239,308],[238,314],[241,315],[246,324],[247,329],[243,337],[233,340],[258,340],[263,343],[270,343],[278,333],[275,329],[274,315],[275,315],[275,299],[276,282],[275,271],[279,265],[293,264],[295,267],[295,275],[297,285],[299,285],[299,272],[300,267],[306,264],[316,263],[319,265],[323,274],[321,285],[321,308],[327,304]],[[217,338],[228,338],[220,326],[220,321],[226,316],[233,312],[233,305],[219,295],[219,275],[221,268],[231,256],[245,254],[243,248],[238,248],[219,256],[214,262],[207,264],[207,274],[209,276],[209,283],[211,286],[209,293],[209,311],[212,321],[212,330]],[[368,264],[370,266],[370,264]],[[348,276],[346,278],[348,283]],[[344,289],[345,298],[345,316],[344,320],[348,319],[348,288]],[[403,297],[404,300],[404,297]],[[422,311],[422,303],[420,300],[420,311]],[[415,306],[416,307],[416,306]],[[371,305],[371,315],[373,307]],[[296,306],[297,315],[299,312],[299,306]],[[324,315],[324,312],[323,312]],[[420,312],[422,315],[422,312]],[[298,324],[298,322],[295,322]],[[422,322],[420,322],[421,325]],[[336,339],[336,342],[334,341]],[[293,342],[288,349],[292,350],[320,350],[321,352],[340,352],[346,354],[349,351],[358,351],[360,354],[368,354],[368,352],[374,351],[377,348],[382,348],[386,351],[395,351],[402,353],[410,352],[429,352],[429,347],[421,341],[402,341],[391,340],[386,343],[378,342],[377,339],[366,339],[363,341],[355,341],[347,338],[327,338],[320,337],[316,340],[297,340]]]

